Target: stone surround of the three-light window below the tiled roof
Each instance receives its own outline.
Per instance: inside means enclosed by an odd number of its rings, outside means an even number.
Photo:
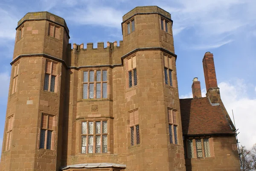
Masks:
[[[191,139],[192,142],[193,142],[193,152],[194,152],[194,157],[192,158],[189,158],[188,156],[188,142],[187,140],[188,139]],[[202,145],[202,154],[203,154],[203,157],[197,157],[197,151],[196,151],[196,142],[195,140],[196,139],[201,139],[201,145]],[[209,150],[210,150],[210,157],[205,157],[205,151],[204,151],[204,139],[209,139]],[[209,158],[212,158],[214,157],[214,150],[213,150],[213,138],[212,137],[189,137],[189,138],[186,138],[184,140],[184,148],[185,148],[185,159],[209,159]]]

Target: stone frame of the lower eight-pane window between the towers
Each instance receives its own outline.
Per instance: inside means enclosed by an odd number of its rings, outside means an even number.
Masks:
[[[83,122],[86,122],[86,133],[83,134],[82,133],[82,125],[83,125]],[[90,134],[89,133],[89,122],[93,122],[93,133]],[[100,133],[96,133],[96,122],[100,122]],[[103,133],[103,122],[107,122],[107,133]],[[79,148],[79,153],[80,154],[108,154],[110,153],[110,148],[109,148],[109,135],[110,135],[110,129],[109,129],[109,119],[96,119],[96,120],[91,120],[91,119],[88,119],[88,120],[82,120],[81,121],[81,125],[80,125],[80,148]],[[82,137],[83,136],[86,136],[86,150],[85,150],[85,153],[82,153]],[[93,152],[92,153],[89,153],[89,136],[93,136]],[[96,136],[100,136],[100,153],[96,153]],[[103,152],[103,136],[107,136],[107,151],[106,152]]]

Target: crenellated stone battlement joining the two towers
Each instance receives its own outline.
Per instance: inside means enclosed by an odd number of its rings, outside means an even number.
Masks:
[[[97,43],[97,48],[93,48],[93,43],[87,43],[87,46],[85,48],[84,43],[76,44],[73,43],[73,49],[71,50],[77,50],[78,52],[80,52],[81,50],[100,50],[100,49],[115,49],[115,48],[121,48],[123,45],[123,41],[119,41],[119,46],[117,46],[117,41],[114,42],[107,42],[107,47],[104,46],[104,42],[98,42]],[[71,44],[70,44],[70,48],[71,48]]]

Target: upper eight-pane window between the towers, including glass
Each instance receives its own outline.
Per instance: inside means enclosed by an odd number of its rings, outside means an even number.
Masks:
[[[108,97],[107,70],[84,71],[83,74],[83,99]]]

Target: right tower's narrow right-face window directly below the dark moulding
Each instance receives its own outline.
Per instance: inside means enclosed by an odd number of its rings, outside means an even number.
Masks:
[[[165,84],[173,86],[172,84],[172,58],[164,55],[164,81]]]

